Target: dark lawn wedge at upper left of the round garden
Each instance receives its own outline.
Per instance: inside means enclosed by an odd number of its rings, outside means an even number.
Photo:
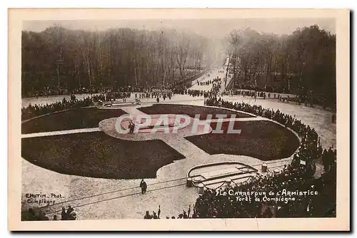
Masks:
[[[98,108],[78,108],[61,113],[44,115],[21,124],[21,133],[44,133],[55,130],[73,130],[97,128],[98,123],[106,118],[115,118],[126,114],[121,109],[103,110]]]

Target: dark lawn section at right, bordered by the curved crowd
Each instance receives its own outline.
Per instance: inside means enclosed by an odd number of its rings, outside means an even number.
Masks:
[[[213,130],[217,123],[211,123]],[[268,120],[234,122],[233,128],[241,134],[228,134],[228,122],[222,123],[223,134],[193,135],[186,139],[210,155],[247,155],[259,160],[277,160],[289,157],[299,146],[299,140],[290,130]]]

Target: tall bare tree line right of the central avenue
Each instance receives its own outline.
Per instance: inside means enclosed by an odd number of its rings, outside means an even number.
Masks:
[[[240,88],[275,87],[336,103],[336,35],[318,26],[282,36],[235,30],[226,37],[226,53]]]

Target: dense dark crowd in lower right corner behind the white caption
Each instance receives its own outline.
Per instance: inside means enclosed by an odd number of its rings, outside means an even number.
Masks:
[[[334,217],[336,216],[336,176],[323,174],[315,179],[306,175],[306,166],[288,165],[281,172],[268,172],[249,182],[221,188],[221,192],[206,189],[196,200],[199,218],[270,218],[270,217]],[[229,195],[228,190],[233,190]],[[281,196],[278,192],[306,192],[302,195]],[[311,191],[311,192],[309,192]],[[227,192],[227,195],[221,195]],[[256,192],[251,200],[237,200],[236,192]],[[273,193],[272,193],[273,192]],[[269,195],[273,194],[273,195]],[[263,196],[276,200],[264,200]],[[259,196],[258,196],[259,197]],[[293,201],[286,199],[294,197]]]

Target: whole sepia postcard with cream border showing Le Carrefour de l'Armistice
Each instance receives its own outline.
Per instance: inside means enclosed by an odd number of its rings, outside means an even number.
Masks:
[[[349,22],[9,9],[9,230],[349,231]]]

